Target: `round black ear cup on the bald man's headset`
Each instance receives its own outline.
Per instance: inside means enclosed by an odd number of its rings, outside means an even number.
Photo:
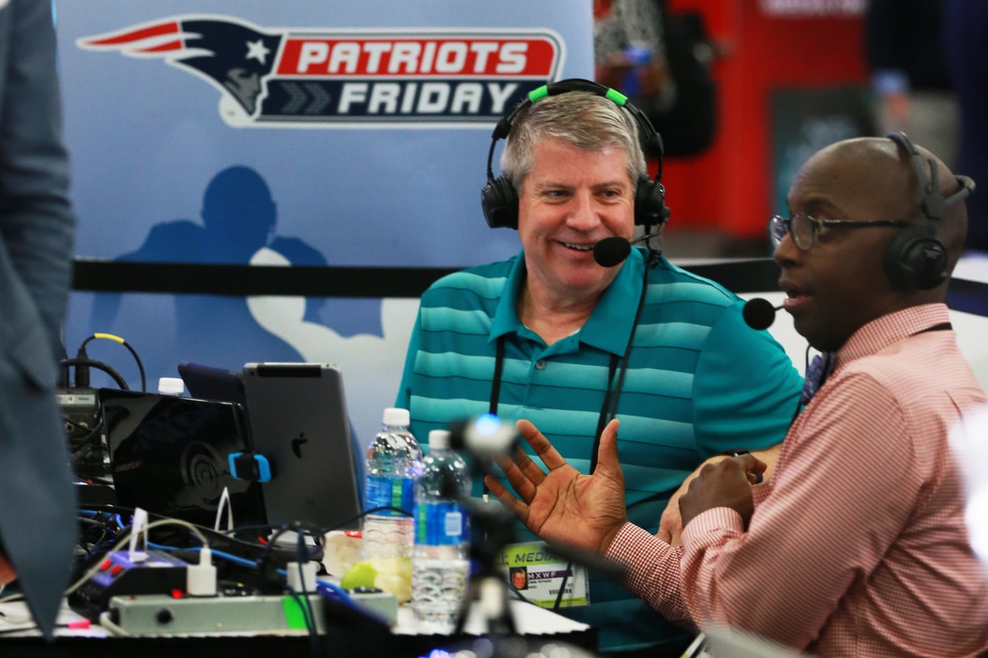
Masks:
[[[885,247],[885,275],[900,290],[937,288],[947,280],[947,248],[922,228],[901,230]]]

